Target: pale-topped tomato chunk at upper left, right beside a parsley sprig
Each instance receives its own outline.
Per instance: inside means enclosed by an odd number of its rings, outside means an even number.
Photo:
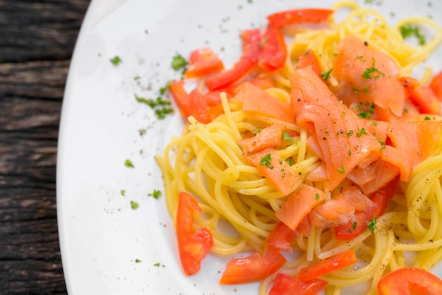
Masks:
[[[186,78],[209,76],[224,69],[221,59],[209,47],[191,52],[189,62]]]

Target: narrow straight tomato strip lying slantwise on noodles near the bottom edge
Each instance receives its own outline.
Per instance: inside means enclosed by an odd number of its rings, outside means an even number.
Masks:
[[[299,270],[299,279],[302,282],[309,281],[321,275],[326,275],[334,270],[339,270],[357,262],[356,255],[353,251],[345,251],[334,255],[333,257],[321,260],[321,262],[308,267],[302,267]]]

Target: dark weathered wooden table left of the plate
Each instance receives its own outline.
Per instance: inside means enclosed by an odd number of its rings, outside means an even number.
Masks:
[[[56,151],[90,0],[0,0],[0,294],[66,294]]]

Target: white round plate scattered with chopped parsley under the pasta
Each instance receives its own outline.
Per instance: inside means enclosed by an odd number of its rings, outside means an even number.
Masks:
[[[154,155],[180,132],[182,120],[156,119],[134,95],[155,98],[178,78],[170,68],[177,53],[209,45],[229,66],[239,56],[240,30],[265,25],[275,11],[333,2],[92,1],[73,54],[59,137],[57,212],[69,294],[257,294],[258,284],[217,284],[225,261],[212,255],[198,275],[182,274],[164,196],[148,197],[163,188]],[[442,11],[439,1],[379,3],[365,5],[387,17],[395,13],[395,20]],[[114,66],[114,56],[122,64]],[[440,69],[441,59],[434,65]],[[135,168],[125,167],[126,159]]]

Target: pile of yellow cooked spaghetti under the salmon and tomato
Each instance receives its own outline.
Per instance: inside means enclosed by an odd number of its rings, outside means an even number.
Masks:
[[[341,1],[333,7],[336,11],[343,8],[350,8],[344,20],[335,22],[332,18],[328,28],[296,32],[296,37],[287,44],[285,66],[272,73],[275,87],[266,89],[268,94],[290,103],[291,78],[297,71],[299,56],[307,50],[318,56],[321,71],[330,74],[326,80],[328,88],[337,93],[340,82],[332,71],[336,45],[348,35],[366,40],[371,48],[390,56],[401,76],[410,76],[413,68],[442,40],[441,28],[429,18],[407,18],[391,26],[380,13],[359,8],[350,1]],[[404,42],[400,34],[399,28],[405,24],[428,25],[434,35],[426,44],[414,47]],[[431,75],[429,68],[421,82],[427,83]],[[167,208],[176,220],[179,192],[189,192],[203,210],[195,215],[196,227],[206,227],[213,234],[211,252],[226,257],[245,251],[262,253],[265,240],[280,222],[275,212],[281,210],[294,191],[303,185],[312,186],[323,192],[325,203],[353,186],[354,180],[345,178],[338,186],[328,189],[330,184],[321,177],[313,177],[325,160],[324,155],[310,148],[311,129],[265,113],[244,112],[242,102],[236,97],[227,99],[224,93],[221,97],[223,114],[208,124],[190,116],[181,136],[173,138],[164,154],[157,156],[165,181]],[[421,114],[412,116],[410,121],[426,123],[426,119]],[[434,126],[439,120],[440,116],[431,116]],[[270,126],[283,126],[287,138],[277,146],[275,155],[289,163],[285,169],[289,167],[290,173],[299,177],[288,193],[282,193],[263,177],[241,146],[241,140],[253,138]],[[326,294],[340,294],[345,287],[364,283],[367,292],[376,294],[376,284],[387,272],[407,265],[425,270],[437,265],[442,260],[442,141],[441,129],[432,130],[434,138],[439,139],[431,144],[428,156],[412,168],[407,181],[400,179],[373,232],[366,230],[350,241],[338,241],[333,227],[311,224],[309,234],[299,234],[292,245],[294,253],[299,255],[288,259],[280,272],[297,275],[301,267],[350,249],[357,254],[357,266],[321,277],[328,282]],[[260,294],[268,293],[274,279],[275,275],[271,275],[263,281]]]

